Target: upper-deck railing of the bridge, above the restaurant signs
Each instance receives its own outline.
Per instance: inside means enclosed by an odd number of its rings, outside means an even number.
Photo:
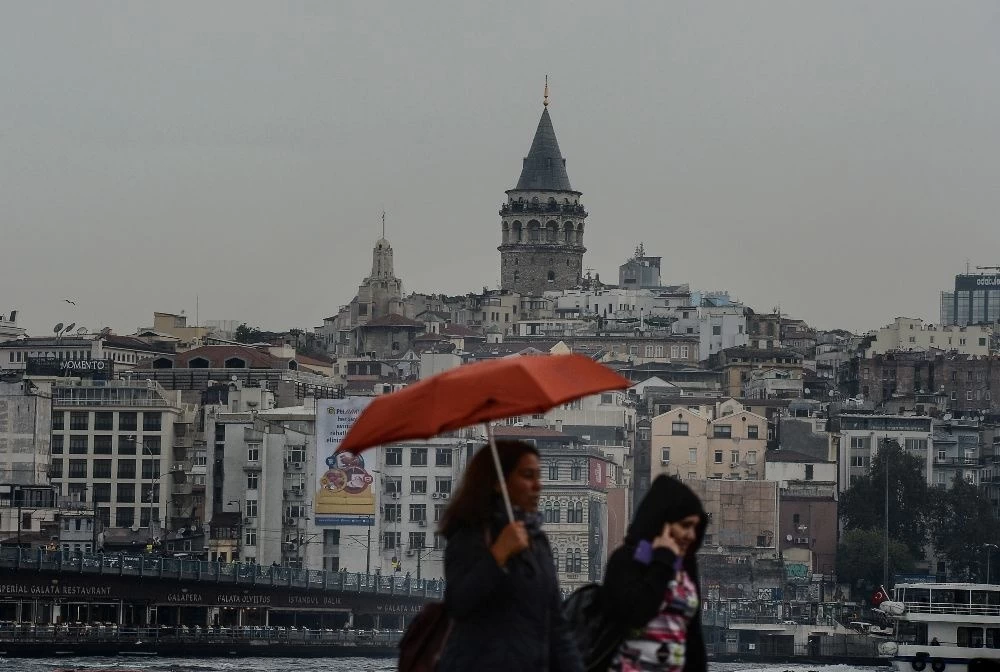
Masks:
[[[0,568],[94,574],[142,576],[174,581],[206,581],[261,587],[286,587],[317,591],[376,593],[440,599],[444,582],[413,579],[398,574],[326,572],[243,562],[206,562],[129,553],[66,555],[60,552],[0,548]]]

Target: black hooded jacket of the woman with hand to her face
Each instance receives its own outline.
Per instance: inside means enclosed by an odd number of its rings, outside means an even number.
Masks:
[[[614,621],[627,628],[642,628],[659,613],[663,596],[676,575],[674,563],[677,556],[666,548],[656,548],[652,549],[650,557],[640,560],[636,556],[643,551],[637,549],[640,546],[648,549],[641,542],[652,542],[660,536],[665,523],[693,514],[701,517],[701,523],[694,545],[683,560],[683,567],[698,586],[695,552],[701,547],[708,521],[701,500],[675,478],[659,476],[653,481],[629,525],[625,544],[608,560],[601,601]],[[700,586],[698,597],[700,600]],[[707,661],[701,632],[701,609],[688,623],[686,645],[685,672],[704,672]]]

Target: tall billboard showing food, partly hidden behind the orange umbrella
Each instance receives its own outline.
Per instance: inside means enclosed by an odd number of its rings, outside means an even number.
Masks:
[[[322,399],[316,404],[316,525],[374,525],[375,478],[378,451],[361,455],[334,452],[354,421],[371,401],[369,397]]]

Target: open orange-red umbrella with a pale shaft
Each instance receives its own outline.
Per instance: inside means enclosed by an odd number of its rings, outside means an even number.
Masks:
[[[580,397],[630,385],[627,379],[583,355],[525,355],[468,364],[376,397],[354,422],[337,452],[359,453],[372,446],[427,439],[483,424],[507,516],[513,520],[490,422],[544,413]]]

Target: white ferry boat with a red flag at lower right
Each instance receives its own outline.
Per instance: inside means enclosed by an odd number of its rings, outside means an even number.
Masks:
[[[896,622],[879,646],[896,672],[1000,669],[1000,586],[903,583],[878,608]]]

